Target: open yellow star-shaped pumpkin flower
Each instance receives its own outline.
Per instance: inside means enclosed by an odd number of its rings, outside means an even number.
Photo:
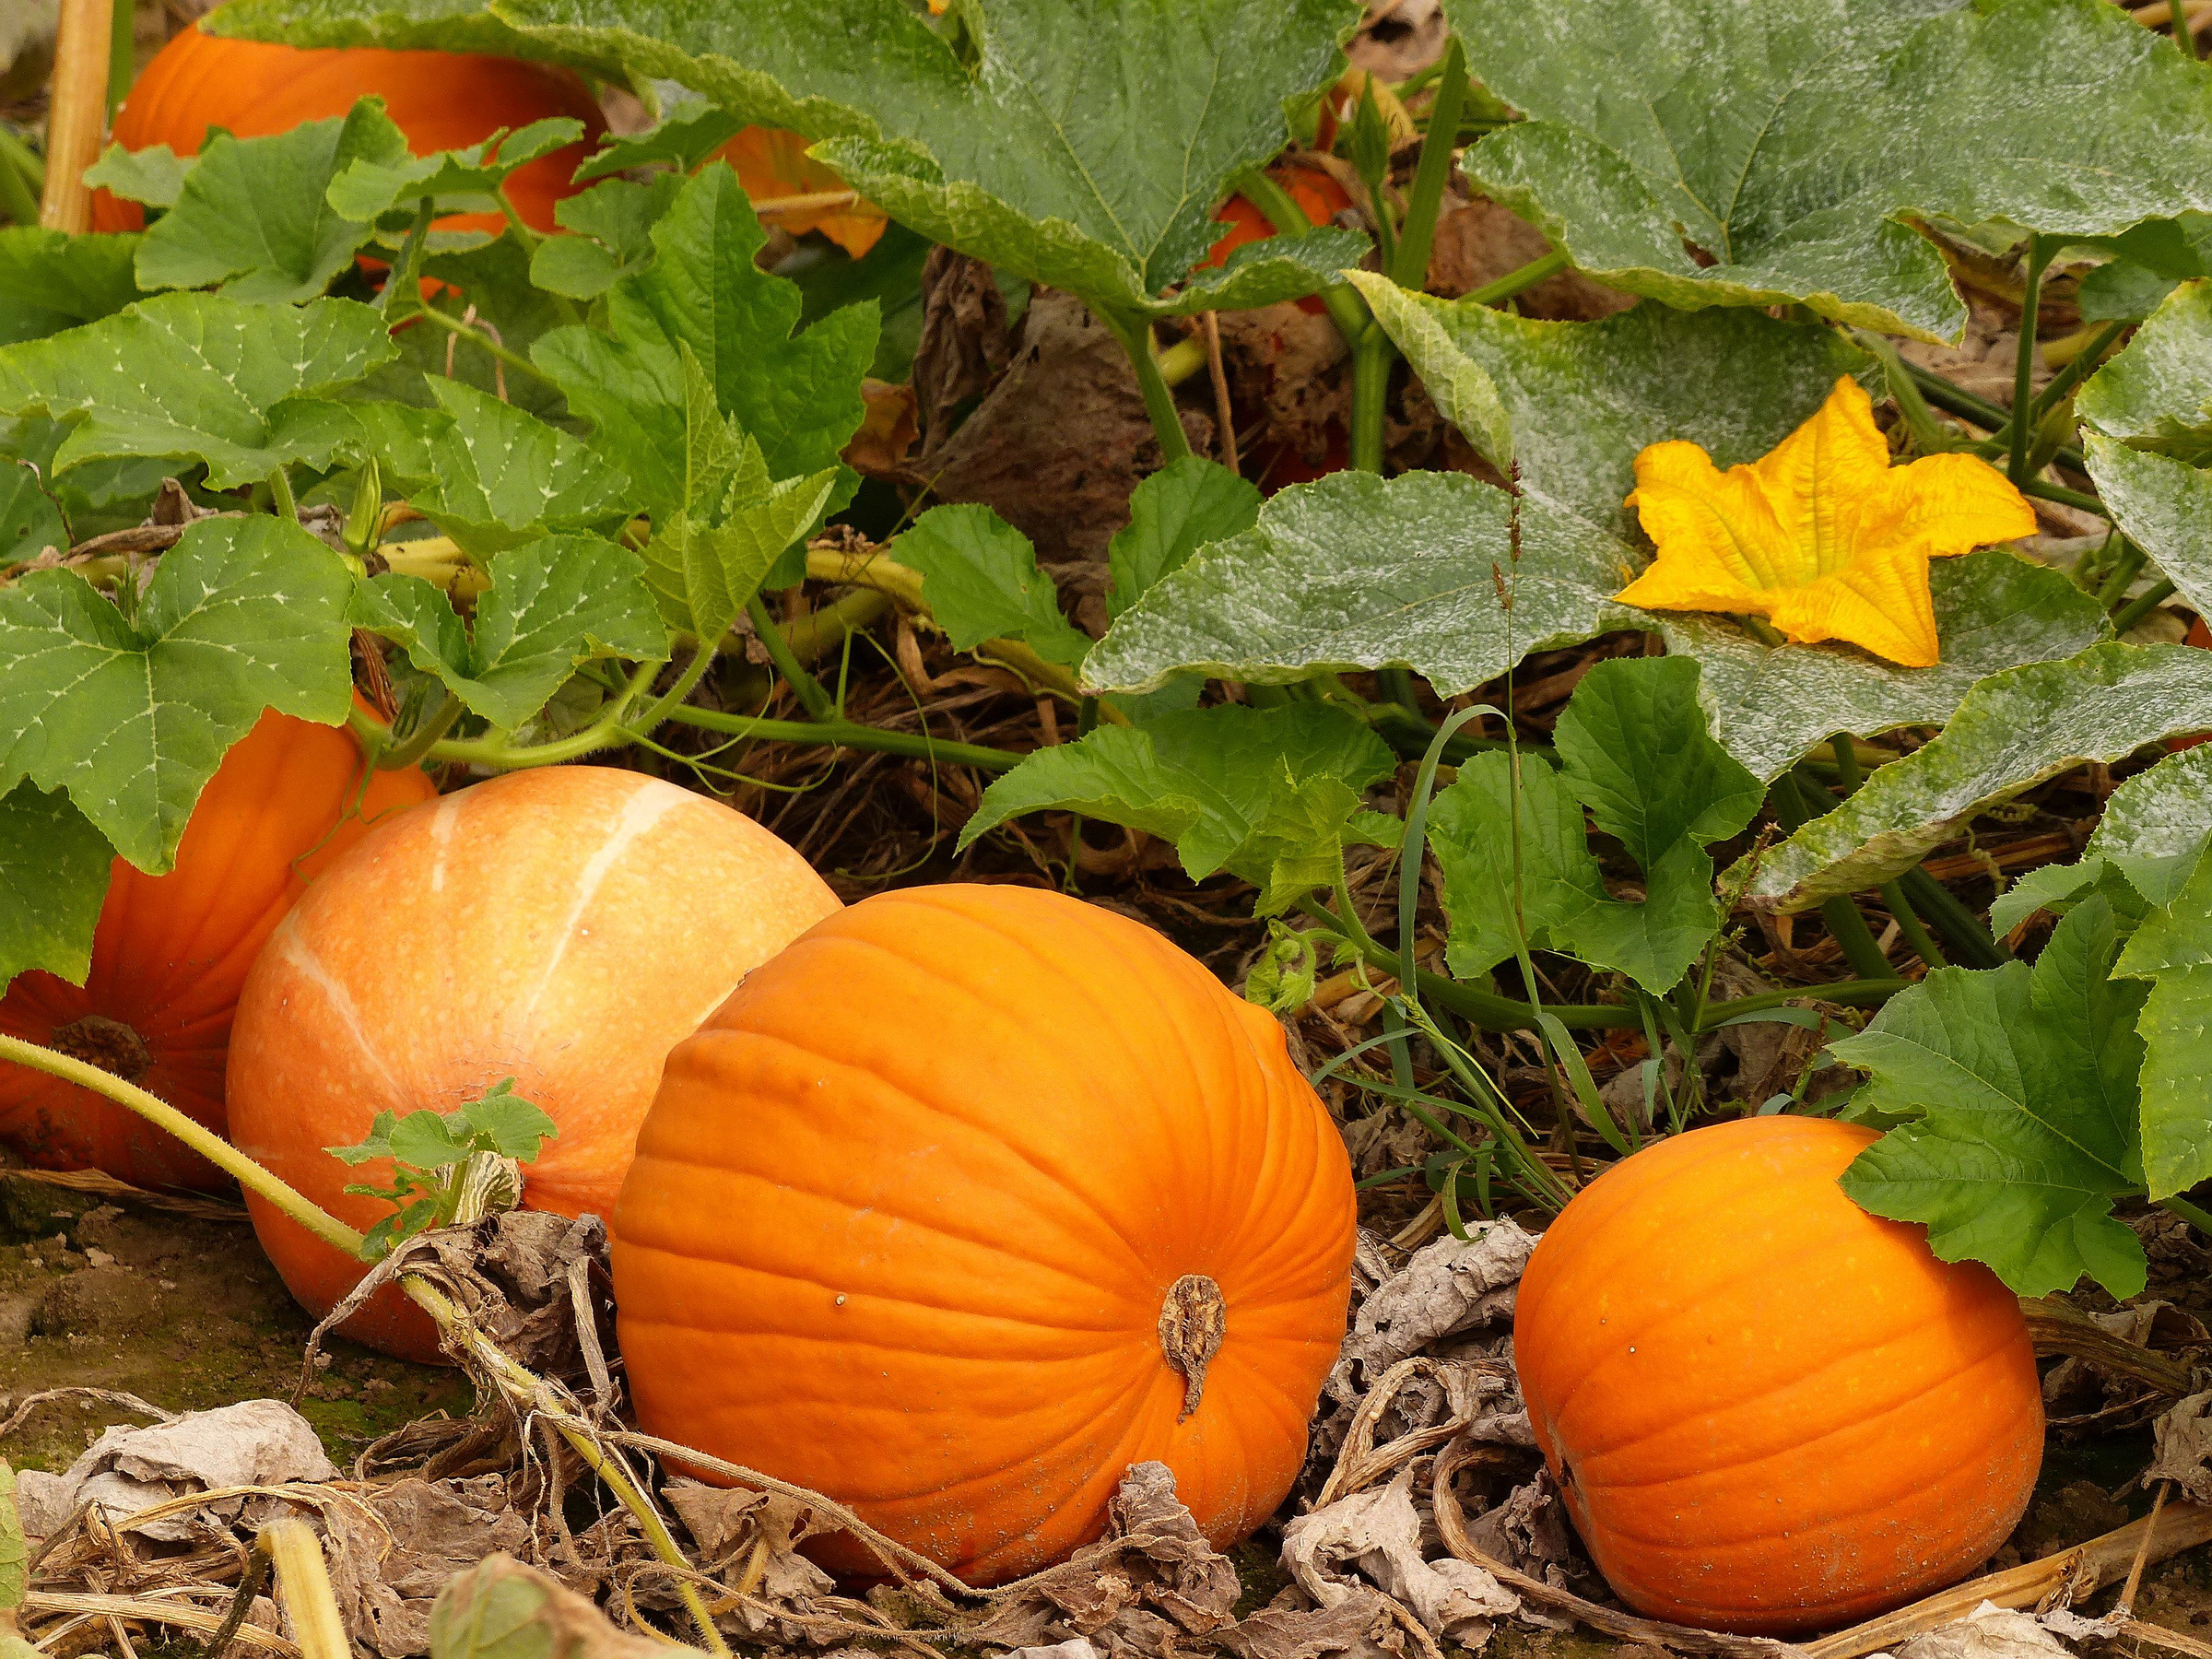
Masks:
[[[1849,376],[1750,467],[1723,473],[1692,442],[1650,445],[1628,504],[1659,557],[1621,604],[1765,617],[1792,644],[1845,639],[1907,668],[1938,661],[1929,560],[2035,531],[1986,460],[1891,467]]]

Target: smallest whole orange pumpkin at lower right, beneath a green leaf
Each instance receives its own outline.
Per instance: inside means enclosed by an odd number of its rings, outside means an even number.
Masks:
[[[2020,1303],[1843,1194],[1871,1139],[1809,1117],[1677,1135],[1528,1261],[1528,1420],[1639,1613],[1849,1624],[1958,1582],[2026,1509],[2044,1405]]]

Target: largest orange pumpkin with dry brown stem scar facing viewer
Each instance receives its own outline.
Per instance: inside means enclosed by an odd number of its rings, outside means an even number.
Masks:
[[[1217,1546],[1267,1520],[1352,1243],[1343,1139],[1267,1013],[1095,905],[920,887],[677,1044],[615,1301],[646,1429],[998,1584],[1095,1537],[1133,1462]]]

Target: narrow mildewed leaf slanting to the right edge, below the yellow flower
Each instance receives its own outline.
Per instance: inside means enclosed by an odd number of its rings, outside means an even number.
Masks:
[[[1984,807],[2086,761],[2212,730],[2212,653],[2101,644],[1991,675],[1951,723],[1858,794],[1761,854],[1745,898],[1812,909],[1920,863]]]

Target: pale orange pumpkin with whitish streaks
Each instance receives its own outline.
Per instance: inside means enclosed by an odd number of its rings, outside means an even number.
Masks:
[[[332,1214],[389,1214],[349,1168],[380,1110],[453,1110],[502,1077],[560,1128],[522,1201],[611,1214],[661,1060],[732,987],[838,907],[741,812],[639,772],[511,772],[367,836],[279,927],[230,1042],[230,1139]],[[248,1199],[292,1294],[325,1314],[363,1265]],[[341,1329],[438,1356],[396,1292]]]

